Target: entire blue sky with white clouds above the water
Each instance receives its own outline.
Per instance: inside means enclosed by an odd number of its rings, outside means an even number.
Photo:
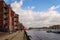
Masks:
[[[60,0],[5,0],[27,28],[60,25]]]

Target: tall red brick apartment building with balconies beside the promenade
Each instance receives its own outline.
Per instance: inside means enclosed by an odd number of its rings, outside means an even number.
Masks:
[[[0,0],[0,31],[12,32],[18,29],[19,16],[7,5],[4,0]]]

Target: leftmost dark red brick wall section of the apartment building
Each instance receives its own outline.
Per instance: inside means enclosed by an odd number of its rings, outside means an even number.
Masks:
[[[0,0],[0,31],[3,31],[2,29],[4,29],[4,8],[5,2]]]

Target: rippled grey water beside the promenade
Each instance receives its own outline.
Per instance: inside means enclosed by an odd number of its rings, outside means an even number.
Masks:
[[[28,30],[27,34],[31,40],[60,40],[60,34],[48,33],[46,30]]]

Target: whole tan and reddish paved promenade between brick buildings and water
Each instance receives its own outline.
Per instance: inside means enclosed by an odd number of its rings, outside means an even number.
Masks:
[[[17,31],[12,34],[5,34],[0,40],[27,40],[24,31]]]

